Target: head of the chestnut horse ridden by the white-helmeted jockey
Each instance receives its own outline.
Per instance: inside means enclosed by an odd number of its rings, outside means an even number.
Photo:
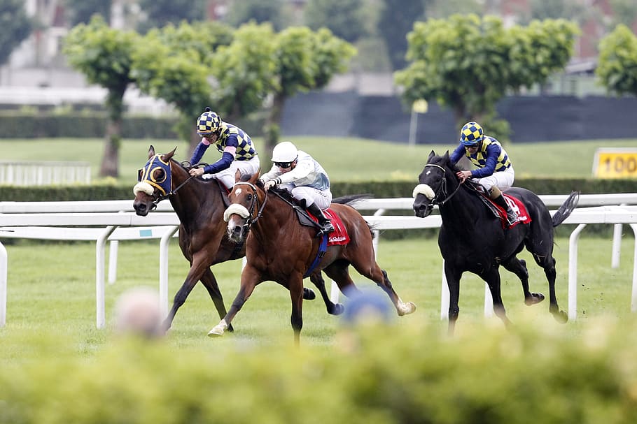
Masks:
[[[235,187],[228,194],[230,206],[223,212],[223,220],[228,222],[228,238],[233,242],[241,242],[248,236],[265,205],[265,190],[258,178],[259,173],[249,178],[241,178],[239,170],[235,173]]]

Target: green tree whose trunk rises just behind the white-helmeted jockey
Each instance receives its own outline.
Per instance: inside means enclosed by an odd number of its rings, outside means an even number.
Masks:
[[[351,44],[326,28],[312,32],[307,27],[290,27],[276,36],[274,96],[264,131],[268,154],[278,141],[283,107],[288,98],[325,87],[333,75],[346,70],[354,54],[356,50]]]

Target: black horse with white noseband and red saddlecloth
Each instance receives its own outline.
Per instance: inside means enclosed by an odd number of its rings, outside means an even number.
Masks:
[[[449,285],[449,334],[453,334],[458,319],[460,279],[465,271],[478,275],[489,285],[493,311],[505,325],[510,324],[510,321],[500,295],[500,264],[519,277],[526,305],[544,300],[542,293],[528,291],[526,262],[516,257],[524,247],[533,254],[535,263],[544,269],[548,279],[549,312],[557,321],[566,323],[568,315],[559,309],[555,296],[553,228],[573,212],[580,198],[579,193],[570,193],[551,217],[535,193],[518,187],[507,189],[505,194],[521,201],[531,221],[504,228],[500,218],[479,198],[482,195],[470,189],[468,184],[458,182],[458,169],[451,165],[449,152],[437,156],[432,151],[418,177],[419,184],[414,189],[416,217],[428,216],[434,205],[440,208],[442,226],[438,246],[444,258],[444,275]]]

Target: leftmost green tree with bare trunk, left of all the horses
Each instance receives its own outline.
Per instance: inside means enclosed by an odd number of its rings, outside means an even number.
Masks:
[[[89,24],[73,27],[64,38],[63,52],[69,64],[83,73],[91,84],[107,90],[106,144],[99,175],[118,177],[124,94],[134,82],[131,76],[132,50],[139,44],[139,34],[111,29],[99,15]]]

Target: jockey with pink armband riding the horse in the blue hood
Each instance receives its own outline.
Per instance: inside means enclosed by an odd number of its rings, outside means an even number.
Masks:
[[[250,136],[238,126],[223,122],[210,108],[197,118],[197,134],[202,140],[195,148],[190,164],[199,163],[211,143],[221,152],[221,159],[204,168],[191,169],[189,172],[193,177],[211,174],[210,178],[221,180],[225,187],[232,189],[237,170],[242,175],[252,175],[259,170],[259,156]]]

